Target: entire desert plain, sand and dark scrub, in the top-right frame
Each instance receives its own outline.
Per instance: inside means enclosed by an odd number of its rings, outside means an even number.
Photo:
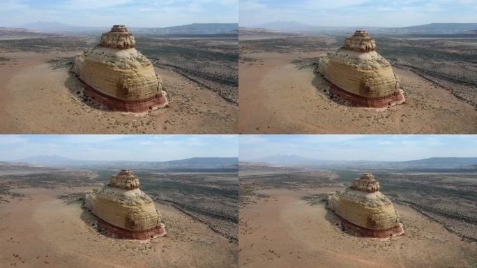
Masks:
[[[385,110],[329,96],[319,57],[344,36],[241,34],[240,133],[476,133],[477,38],[371,34],[407,101]]]

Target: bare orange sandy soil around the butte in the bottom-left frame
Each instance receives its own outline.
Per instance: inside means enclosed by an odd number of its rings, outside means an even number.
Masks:
[[[139,242],[99,234],[87,223],[91,214],[56,198],[86,190],[22,189],[26,197],[0,204],[0,266],[237,267],[235,244],[165,204],[156,207],[167,237]]]

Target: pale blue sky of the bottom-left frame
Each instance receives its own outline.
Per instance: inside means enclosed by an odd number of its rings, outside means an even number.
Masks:
[[[237,135],[0,135],[0,161],[54,155],[79,160],[169,161],[237,157]]]

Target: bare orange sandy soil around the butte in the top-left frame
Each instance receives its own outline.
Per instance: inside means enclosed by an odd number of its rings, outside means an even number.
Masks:
[[[77,52],[8,52],[0,65],[0,133],[236,133],[237,106],[165,68],[156,68],[170,107],[144,114],[98,110],[75,92],[67,68],[45,61]]]

